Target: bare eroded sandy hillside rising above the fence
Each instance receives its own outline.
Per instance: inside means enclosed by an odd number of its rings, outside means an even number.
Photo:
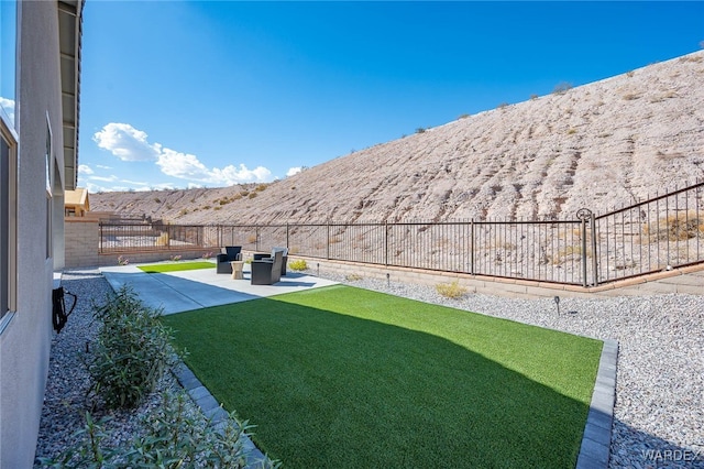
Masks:
[[[702,84],[704,51],[461,118],[268,185],[91,194],[91,208],[198,225],[600,214],[704,178]]]

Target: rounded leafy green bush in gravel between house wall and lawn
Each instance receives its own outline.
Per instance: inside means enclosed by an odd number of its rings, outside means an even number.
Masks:
[[[102,324],[90,347],[88,372],[91,392],[109,408],[134,407],[154,390],[173,363],[170,330],[160,320],[161,312],[145,306],[129,287],[94,305]]]

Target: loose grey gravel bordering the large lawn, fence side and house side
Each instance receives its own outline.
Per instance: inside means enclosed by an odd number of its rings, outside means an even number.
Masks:
[[[452,299],[435,287],[320,276],[428,303],[473,310],[619,343],[612,468],[704,468],[704,295],[669,294],[601,299],[550,299],[464,295]],[[80,351],[95,336],[90,298],[110,292],[97,271],[64,274],[63,285],[79,296],[76,312],[54,337],[37,456],[55,456],[82,426],[88,375]],[[165,377],[161,390],[176,385]],[[138,415],[154,408],[160,393],[132,413],[112,414],[119,440],[138,429]],[[253,424],[256,424],[254,422]],[[119,441],[116,441],[119,444]],[[285,463],[285,461],[284,461]]]

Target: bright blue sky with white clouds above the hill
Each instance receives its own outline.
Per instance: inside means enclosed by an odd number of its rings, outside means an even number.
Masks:
[[[703,2],[88,0],[84,13],[91,192],[285,178],[704,41]]]

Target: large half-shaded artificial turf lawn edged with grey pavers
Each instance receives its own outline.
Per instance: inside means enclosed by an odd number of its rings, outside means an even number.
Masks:
[[[163,319],[288,468],[572,468],[602,349],[343,285]]]

